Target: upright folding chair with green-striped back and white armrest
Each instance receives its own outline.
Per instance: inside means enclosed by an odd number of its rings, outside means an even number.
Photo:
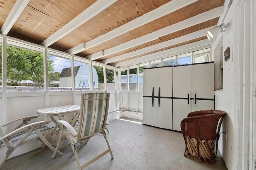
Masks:
[[[56,156],[56,152],[60,148],[60,141],[63,138],[68,138],[68,140],[70,140],[70,144],[75,155],[79,170],[84,169],[86,166],[92,164],[94,161],[98,160],[108,152],[110,152],[111,158],[114,158],[108,143],[106,132],[104,131],[108,116],[109,96],[110,93],[81,94],[81,109],[78,130],[76,131],[75,128],[66,121],[57,121],[58,125],[62,127],[62,130],[60,131],[61,135],[52,158]],[[108,150],[102,152],[85,164],[80,165],[76,145],[80,143],[81,147],[84,146],[84,144],[88,142],[89,138],[98,133],[103,134],[108,145]]]

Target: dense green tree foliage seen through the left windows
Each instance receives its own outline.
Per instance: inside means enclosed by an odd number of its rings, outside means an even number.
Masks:
[[[48,73],[54,71],[52,60],[48,60]],[[0,65],[2,67],[2,44],[0,44]],[[2,74],[2,69],[0,70]],[[52,79],[49,76],[49,79]],[[7,80],[11,82],[32,80],[44,83],[44,57],[42,53],[7,46]]]

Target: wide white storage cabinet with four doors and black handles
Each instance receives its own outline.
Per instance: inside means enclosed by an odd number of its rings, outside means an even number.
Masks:
[[[192,111],[214,109],[214,63],[144,69],[143,124],[180,131]]]

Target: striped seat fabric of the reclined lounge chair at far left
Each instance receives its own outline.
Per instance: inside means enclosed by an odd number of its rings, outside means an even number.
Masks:
[[[50,132],[52,132],[52,128],[49,128],[47,126],[41,126],[41,127],[38,127],[39,131],[43,134],[43,135],[46,135],[46,134],[49,134]],[[13,145],[15,145],[23,136],[25,136],[25,134],[27,133],[28,131],[25,131],[25,132],[21,132],[19,134],[15,134],[14,136],[11,136],[9,138],[10,142],[12,142]],[[35,131],[33,131],[25,140],[29,140],[29,139],[32,139],[32,138],[38,138],[38,135],[36,134]]]

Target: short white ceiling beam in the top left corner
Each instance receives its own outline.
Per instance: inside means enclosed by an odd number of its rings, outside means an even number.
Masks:
[[[23,12],[23,10],[26,8],[29,0],[17,0],[14,4],[10,14],[6,18],[6,21],[4,22],[0,34],[7,35],[8,32],[11,30],[13,24],[17,21],[20,14]]]

